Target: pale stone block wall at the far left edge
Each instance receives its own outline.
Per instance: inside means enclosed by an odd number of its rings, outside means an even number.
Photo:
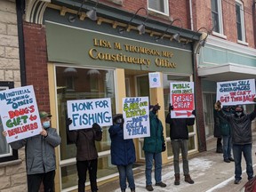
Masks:
[[[0,1],[0,81],[14,82],[20,87],[20,56],[16,5],[12,0]],[[26,192],[27,177],[24,148],[20,161],[0,164],[0,191]]]

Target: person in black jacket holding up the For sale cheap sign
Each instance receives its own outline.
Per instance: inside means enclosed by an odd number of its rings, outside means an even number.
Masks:
[[[170,124],[170,137],[172,141],[173,165],[174,165],[174,185],[180,185],[180,149],[183,163],[183,173],[185,181],[193,184],[194,180],[189,175],[188,167],[188,126],[195,124],[195,118],[172,118],[171,110],[173,106],[169,105],[169,113],[165,118],[165,123]],[[195,110],[192,111],[195,116]]]

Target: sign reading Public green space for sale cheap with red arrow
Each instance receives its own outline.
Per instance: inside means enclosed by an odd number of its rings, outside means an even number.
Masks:
[[[192,118],[194,107],[194,82],[170,83],[172,118]]]

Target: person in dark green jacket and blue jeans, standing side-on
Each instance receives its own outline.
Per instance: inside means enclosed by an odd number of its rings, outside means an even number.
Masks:
[[[143,150],[146,160],[146,189],[153,191],[151,172],[153,167],[153,160],[155,161],[155,180],[156,186],[165,188],[166,184],[162,182],[162,149],[164,143],[164,128],[163,124],[158,119],[156,112],[160,106],[149,106],[149,121],[150,121],[150,137],[144,138]]]

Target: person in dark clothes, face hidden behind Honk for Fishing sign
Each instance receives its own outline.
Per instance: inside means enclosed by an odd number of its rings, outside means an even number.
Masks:
[[[72,124],[70,118],[67,119],[67,126]],[[102,131],[99,124],[92,124],[92,128],[75,131],[68,130],[68,140],[76,143],[76,169],[78,174],[78,192],[85,191],[85,181],[87,170],[92,192],[97,192],[97,169],[98,152],[95,140],[102,139]]]

